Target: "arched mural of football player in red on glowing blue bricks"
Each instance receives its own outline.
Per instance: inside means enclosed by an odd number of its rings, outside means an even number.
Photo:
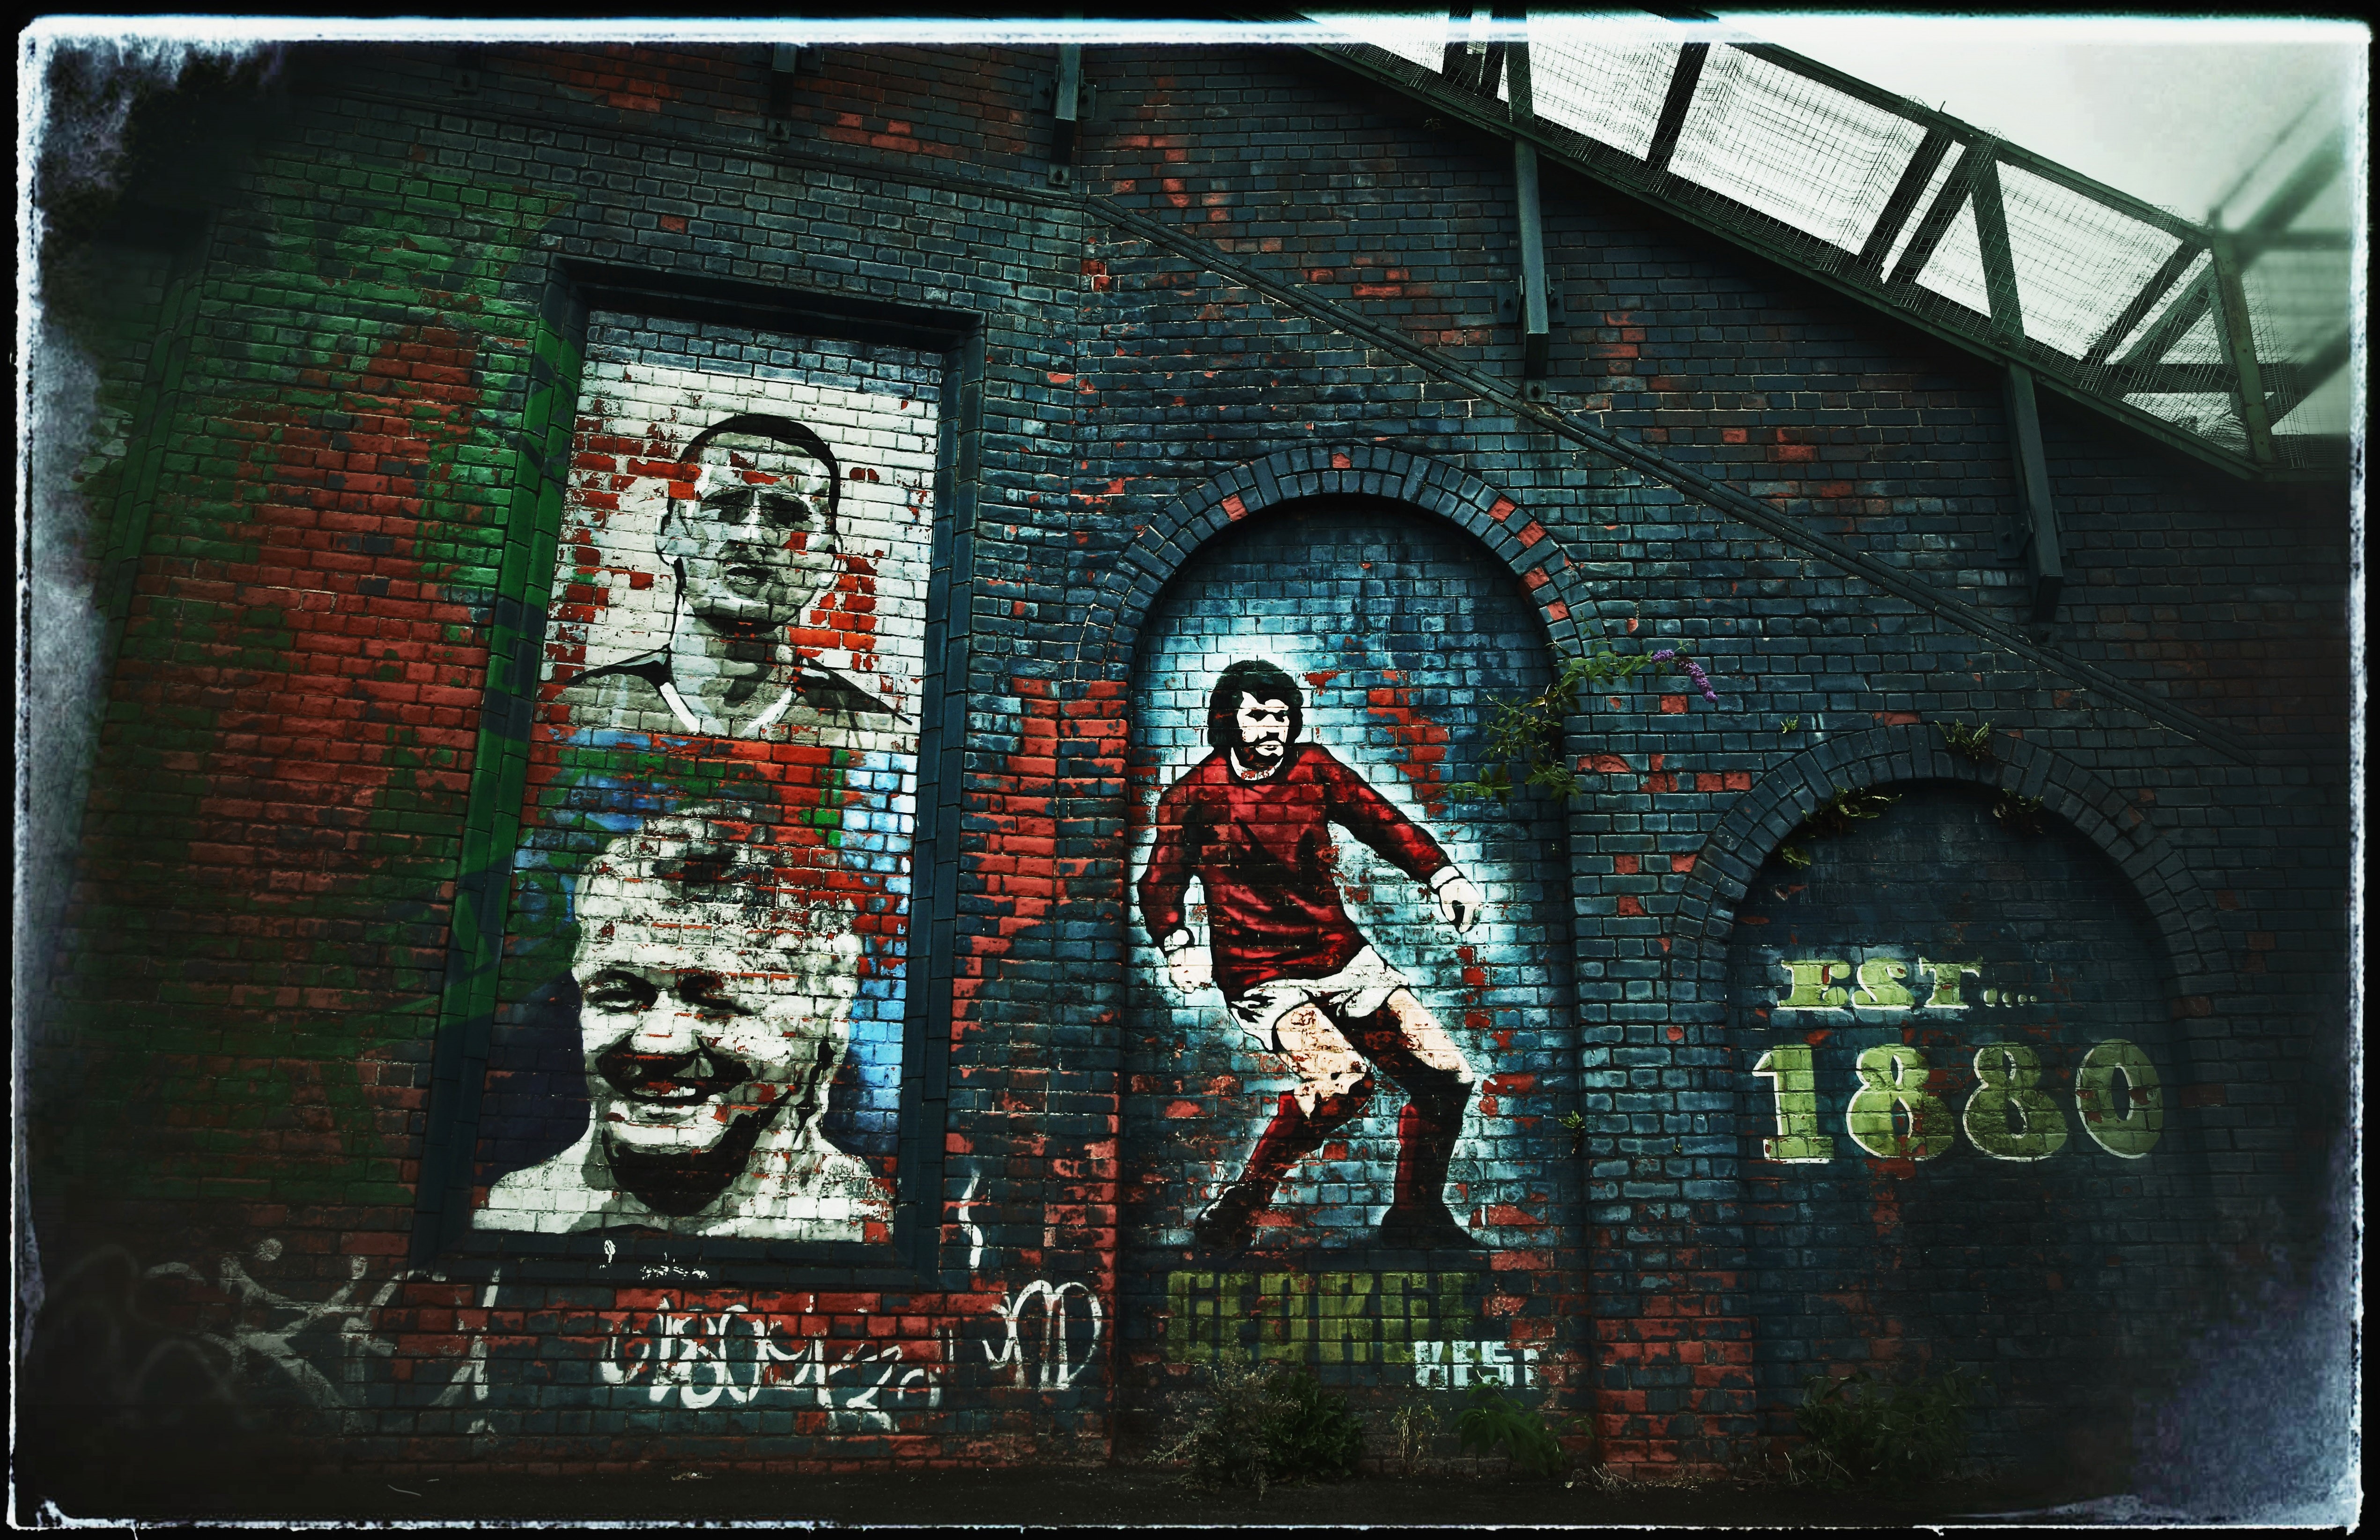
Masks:
[[[1552,1321],[1490,1254],[1573,1200],[1559,821],[1449,788],[1547,674],[1511,574],[1390,505],[1250,519],[1152,612],[1126,1288],[1169,1361],[1530,1378]]]

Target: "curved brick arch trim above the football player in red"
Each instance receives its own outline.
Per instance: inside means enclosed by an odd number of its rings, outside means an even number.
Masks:
[[[1150,605],[1190,552],[1240,519],[1304,497],[1385,497],[1468,531],[1511,566],[1554,650],[1578,650],[1576,616],[1585,600],[1578,566],[1516,497],[1426,455],[1316,443],[1252,459],[1159,509],[1090,597],[1064,659],[1071,676],[1123,681]]]

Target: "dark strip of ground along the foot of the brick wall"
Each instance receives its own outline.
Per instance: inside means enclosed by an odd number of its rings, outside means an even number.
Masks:
[[[19,1519],[676,1519],[823,1523],[1326,1523],[1326,1526],[1909,1526],[2037,1509],[2082,1492],[1954,1483],[1828,1492],[1780,1483],[1618,1483],[1480,1476],[1359,1476],[1328,1485],[1202,1492],[1150,1466],[928,1469],[871,1476],[652,1471],[612,1476],[471,1473],[298,1478],[200,1490],[195,1483],[40,1483],[19,1478]],[[52,1519],[55,1521],[55,1519]]]

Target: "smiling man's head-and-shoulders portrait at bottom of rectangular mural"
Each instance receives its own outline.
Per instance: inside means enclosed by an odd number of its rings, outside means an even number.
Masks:
[[[795,893],[735,812],[650,819],[581,876],[588,1131],[502,1178],[481,1228],[859,1240],[883,1219],[881,1178],[819,1133],[859,993],[852,912]]]

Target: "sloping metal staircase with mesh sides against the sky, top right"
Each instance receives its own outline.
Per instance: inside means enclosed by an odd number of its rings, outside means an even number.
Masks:
[[[1545,157],[2013,367],[2011,388],[2037,381],[2237,476],[2347,474],[2342,129],[2278,145],[2285,174],[2221,226],[1785,48],[1461,7],[1361,31],[1309,48],[1514,140],[1516,181]],[[1537,343],[1533,267],[1518,319]]]

